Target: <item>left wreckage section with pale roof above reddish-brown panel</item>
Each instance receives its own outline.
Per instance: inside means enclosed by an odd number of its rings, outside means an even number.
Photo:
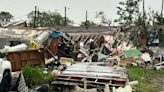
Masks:
[[[19,71],[27,64],[44,63],[49,31],[1,29],[0,33],[1,53],[11,62],[12,71]]]

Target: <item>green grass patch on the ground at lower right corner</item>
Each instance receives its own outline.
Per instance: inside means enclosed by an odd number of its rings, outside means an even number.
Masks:
[[[139,82],[139,84],[136,86],[137,92],[159,92],[161,86],[164,85],[152,82],[152,80],[155,78],[164,78],[164,71],[139,67],[129,67],[128,75],[130,81],[137,80]]]

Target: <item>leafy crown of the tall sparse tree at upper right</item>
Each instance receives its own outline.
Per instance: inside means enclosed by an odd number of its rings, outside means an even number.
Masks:
[[[117,7],[119,19],[115,21],[125,28],[133,26],[137,16],[139,16],[140,1],[141,0],[126,0],[119,2],[119,7]]]

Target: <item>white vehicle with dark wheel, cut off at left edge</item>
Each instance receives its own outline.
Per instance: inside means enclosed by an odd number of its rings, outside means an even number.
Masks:
[[[10,91],[11,63],[0,55],[0,92]]]

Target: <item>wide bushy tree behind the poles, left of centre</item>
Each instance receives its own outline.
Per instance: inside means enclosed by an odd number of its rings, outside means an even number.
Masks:
[[[30,12],[28,15],[28,20],[30,25],[34,25],[35,12]],[[53,26],[70,26],[73,21],[66,19],[57,12],[43,11],[38,12],[36,16],[36,24],[39,27],[53,27]]]

